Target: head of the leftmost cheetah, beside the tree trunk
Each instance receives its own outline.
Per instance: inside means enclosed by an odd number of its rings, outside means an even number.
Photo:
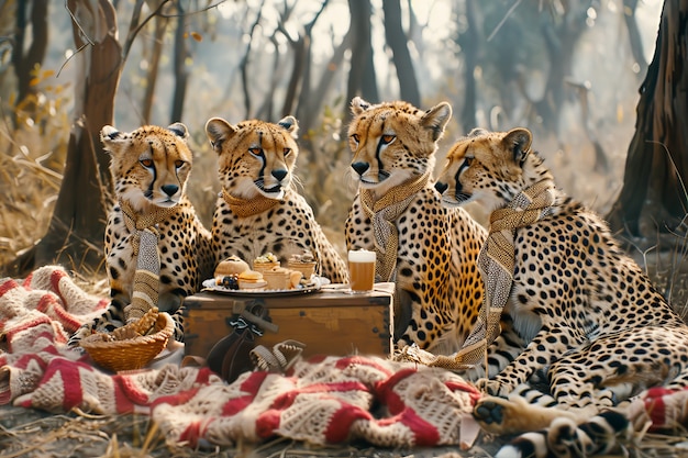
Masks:
[[[116,197],[138,211],[148,205],[170,208],[179,203],[191,171],[188,136],[181,123],[167,129],[148,125],[131,133],[111,125],[102,127],[100,139],[111,156]]]

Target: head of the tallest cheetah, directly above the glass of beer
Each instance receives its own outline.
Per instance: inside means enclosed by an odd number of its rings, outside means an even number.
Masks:
[[[381,196],[432,170],[437,141],[452,118],[452,109],[446,102],[428,111],[401,101],[371,105],[356,97],[352,114],[352,169],[360,187]]]

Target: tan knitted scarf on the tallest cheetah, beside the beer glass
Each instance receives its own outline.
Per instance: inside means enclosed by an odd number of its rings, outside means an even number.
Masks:
[[[377,281],[391,281],[397,265],[397,249],[399,247],[399,232],[395,221],[411,203],[415,194],[430,180],[430,172],[425,172],[413,181],[391,188],[381,199],[374,201],[373,192],[360,190],[360,205],[366,215],[373,221],[375,234],[375,277]]]

